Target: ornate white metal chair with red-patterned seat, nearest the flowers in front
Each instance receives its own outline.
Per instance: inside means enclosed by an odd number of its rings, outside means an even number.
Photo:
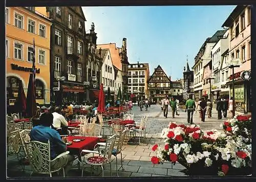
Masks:
[[[102,177],[104,176],[104,168],[103,166],[105,164],[110,164],[110,173],[112,176],[112,170],[111,170],[111,156],[112,156],[112,151],[115,145],[115,140],[116,140],[116,135],[112,135],[108,139],[106,139],[106,144],[102,150],[100,148],[96,148],[96,150],[82,150],[81,151],[81,156],[82,160],[80,161],[82,165],[82,176],[83,176],[83,170],[85,164],[89,164],[91,166],[100,166],[102,169]],[[97,145],[97,144],[96,144]],[[85,155],[83,155],[86,153]],[[89,155],[93,154],[93,156]],[[94,154],[98,154],[97,156],[94,156]]]

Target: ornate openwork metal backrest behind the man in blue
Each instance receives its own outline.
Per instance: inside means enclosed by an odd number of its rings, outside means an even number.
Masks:
[[[48,143],[25,142],[25,148],[33,172],[50,174],[50,141]]]

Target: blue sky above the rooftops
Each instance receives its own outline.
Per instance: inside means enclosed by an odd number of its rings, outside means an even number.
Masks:
[[[217,30],[236,6],[128,6],[82,7],[89,32],[94,22],[97,44],[127,38],[130,63],[149,63],[150,75],[158,64],[172,80],[183,77],[183,67],[194,58],[207,37]]]

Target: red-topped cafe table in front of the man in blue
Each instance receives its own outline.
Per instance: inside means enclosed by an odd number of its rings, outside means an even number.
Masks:
[[[74,139],[80,139],[80,142],[74,142]],[[79,161],[81,161],[81,151],[93,150],[94,146],[100,142],[98,137],[82,137],[82,136],[69,136],[68,141],[72,141],[71,145],[67,145],[67,150],[70,151],[70,154],[77,155]]]

